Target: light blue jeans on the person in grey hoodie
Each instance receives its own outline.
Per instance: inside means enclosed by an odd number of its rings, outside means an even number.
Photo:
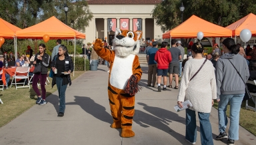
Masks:
[[[239,112],[245,94],[221,94],[219,96],[219,132],[225,132],[227,128],[227,104],[230,101],[230,126],[229,139],[239,139]]]

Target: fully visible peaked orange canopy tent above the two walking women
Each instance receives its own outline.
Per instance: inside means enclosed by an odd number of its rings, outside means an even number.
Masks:
[[[50,39],[85,39],[85,34],[79,33],[79,31],[65,25],[54,16],[16,32],[16,37],[19,39],[43,39],[43,35],[49,35]],[[75,75],[75,51],[73,56],[73,75]]]

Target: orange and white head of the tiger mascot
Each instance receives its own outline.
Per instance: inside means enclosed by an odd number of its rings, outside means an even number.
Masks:
[[[139,53],[142,31],[129,31],[117,28],[113,39],[113,49],[118,57],[127,57]]]

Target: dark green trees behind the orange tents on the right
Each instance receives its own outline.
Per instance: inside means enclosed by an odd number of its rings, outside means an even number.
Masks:
[[[256,14],[254,0],[183,0],[185,11],[183,19],[189,19],[191,15],[197,15],[206,21],[227,27],[231,23],[245,17],[249,13]],[[177,27],[181,23],[179,0],[164,0],[155,5],[152,17],[163,32]]]

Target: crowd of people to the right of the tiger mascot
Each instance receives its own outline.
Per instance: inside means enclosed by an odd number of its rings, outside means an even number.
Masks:
[[[185,63],[183,63],[184,49],[181,47],[181,42],[172,39],[169,49],[167,45],[168,43],[163,42],[161,49],[157,49],[157,43],[153,43],[153,47],[147,50],[149,66],[147,86],[155,87],[157,84],[157,91],[161,92],[161,77],[163,76],[163,90],[167,90],[168,72],[169,87],[172,87],[172,78],[175,77],[174,88],[180,87],[177,96],[178,106],[183,108],[182,102],[185,100],[193,104],[185,110],[185,139],[191,144],[195,144],[197,138],[195,112],[198,112],[199,116],[201,144],[213,144],[209,116],[213,100],[216,100],[219,104],[219,135],[215,139],[228,138],[228,144],[235,144],[235,140],[239,140],[239,112],[245,95],[244,82],[247,82],[249,77],[251,80],[256,78],[256,61],[251,59],[248,67],[247,57],[244,57],[246,54],[241,52],[240,45],[236,45],[231,38],[223,41],[223,55],[219,45],[213,46],[211,60],[203,57],[204,47],[201,43],[189,43],[188,60]],[[256,45],[253,47],[253,50],[255,49]],[[248,53],[249,49],[246,50]],[[250,51],[248,55],[253,53]],[[183,70],[179,67],[182,63]],[[182,75],[181,71],[183,71]],[[181,83],[178,87],[179,76],[181,76]],[[228,104],[231,107],[230,127],[226,130]]]

